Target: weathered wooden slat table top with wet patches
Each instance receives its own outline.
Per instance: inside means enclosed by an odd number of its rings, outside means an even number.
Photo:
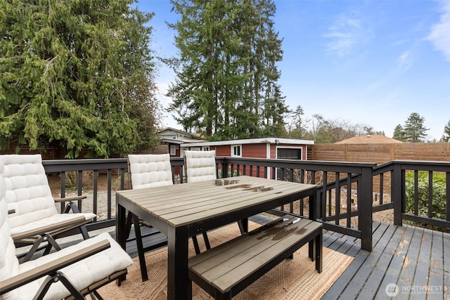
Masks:
[[[212,181],[164,185],[117,192],[174,227],[254,207],[271,200],[311,190],[316,185],[237,176]]]

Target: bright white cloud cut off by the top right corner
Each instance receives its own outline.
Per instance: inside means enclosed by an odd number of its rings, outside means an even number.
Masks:
[[[441,19],[432,26],[428,39],[450,61],[450,1],[444,4]]]

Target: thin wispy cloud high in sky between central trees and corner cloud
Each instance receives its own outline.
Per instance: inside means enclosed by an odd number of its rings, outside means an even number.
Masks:
[[[361,19],[342,13],[328,28],[324,37],[330,39],[327,51],[338,56],[346,56],[356,46],[366,44],[370,39],[370,31],[361,25]]]

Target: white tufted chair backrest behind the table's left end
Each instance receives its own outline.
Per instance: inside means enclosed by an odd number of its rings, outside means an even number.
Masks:
[[[174,184],[169,154],[128,155],[128,170],[130,189]]]

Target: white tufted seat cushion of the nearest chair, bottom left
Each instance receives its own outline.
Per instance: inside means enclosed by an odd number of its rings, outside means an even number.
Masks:
[[[37,268],[38,266],[42,266],[49,261],[59,258],[60,256],[77,252],[83,247],[105,239],[110,241],[110,248],[61,269],[61,271],[70,279],[77,289],[84,289],[94,282],[106,278],[108,275],[111,275],[117,270],[127,268],[127,266],[130,266],[131,263],[133,263],[127,252],[124,252],[120,245],[117,244],[113,237],[111,237],[108,233],[101,233],[96,237],[91,237],[89,240],[79,242],[79,244],[61,249],[58,252],[53,252],[46,256],[41,256],[39,259],[35,259],[34,261],[21,263],[19,265],[19,273],[23,273],[32,268]],[[43,281],[44,278],[41,278],[39,280],[34,280],[27,285],[23,285],[18,289],[18,294],[20,294],[22,299],[32,299]],[[69,294],[70,293],[61,282],[56,282],[51,285],[45,299],[62,299]]]

